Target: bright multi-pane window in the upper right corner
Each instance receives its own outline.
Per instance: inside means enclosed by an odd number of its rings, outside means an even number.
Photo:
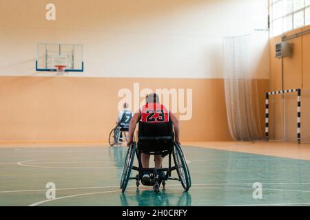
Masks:
[[[269,0],[271,36],[310,25],[310,0]]]

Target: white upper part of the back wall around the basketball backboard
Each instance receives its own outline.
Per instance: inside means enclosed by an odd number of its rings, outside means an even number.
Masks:
[[[56,21],[45,5],[56,4]],[[85,72],[68,76],[222,78],[223,37],[267,25],[267,0],[1,0],[0,76],[34,71],[38,42],[81,43]],[[255,32],[268,78],[268,32]],[[256,64],[255,64],[256,62]]]

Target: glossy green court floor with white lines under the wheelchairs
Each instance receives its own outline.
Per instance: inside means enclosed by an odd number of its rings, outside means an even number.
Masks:
[[[309,206],[310,162],[183,146],[192,188],[169,181],[156,195],[119,177],[127,147],[0,148],[0,206]],[[135,173],[135,171],[133,171]],[[45,185],[56,185],[46,199]],[[262,184],[254,199],[253,184]]]

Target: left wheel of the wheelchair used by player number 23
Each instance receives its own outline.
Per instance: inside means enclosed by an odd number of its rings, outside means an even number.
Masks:
[[[132,146],[128,147],[128,152],[125,158],[123,173],[121,175],[121,189],[125,192],[127,184],[132,173],[132,164],[134,164],[134,154],[136,153],[136,142]]]

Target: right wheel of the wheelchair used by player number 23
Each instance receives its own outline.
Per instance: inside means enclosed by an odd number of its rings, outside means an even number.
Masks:
[[[189,175],[189,170],[186,164],[185,155],[180,148],[180,145],[174,144],[174,163],[176,164],[176,172],[178,173],[178,178],[185,190],[187,192],[191,187],[192,181]]]

